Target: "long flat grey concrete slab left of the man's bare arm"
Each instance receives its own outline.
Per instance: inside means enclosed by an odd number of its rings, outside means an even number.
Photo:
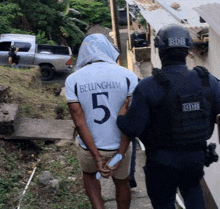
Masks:
[[[21,118],[15,131],[9,135],[0,135],[4,139],[36,139],[42,141],[73,140],[74,124],[72,120]]]

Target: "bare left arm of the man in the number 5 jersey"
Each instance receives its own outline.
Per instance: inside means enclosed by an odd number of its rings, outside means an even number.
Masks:
[[[73,122],[76,126],[77,133],[82,139],[83,143],[91,152],[95,161],[99,161],[101,159],[101,155],[98,152],[98,149],[95,146],[92,135],[86,125],[86,120],[84,116],[84,111],[79,103],[69,103],[69,110]]]

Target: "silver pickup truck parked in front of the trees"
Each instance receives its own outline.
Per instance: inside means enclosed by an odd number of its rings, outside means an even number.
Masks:
[[[9,65],[8,52],[12,45],[19,48],[19,66],[39,66],[42,80],[51,80],[55,72],[73,68],[70,47],[39,45],[35,36],[25,34],[0,35],[0,65]]]

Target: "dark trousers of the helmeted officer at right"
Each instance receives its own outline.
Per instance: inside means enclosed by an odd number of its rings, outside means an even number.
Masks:
[[[147,193],[154,209],[175,209],[176,191],[179,188],[186,209],[205,209],[200,180],[203,165],[194,164],[179,169],[154,161],[144,167]]]

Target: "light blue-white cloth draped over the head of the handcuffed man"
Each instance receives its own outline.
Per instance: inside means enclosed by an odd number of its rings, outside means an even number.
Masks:
[[[119,56],[117,48],[101,33],[88,35],[82,42],[74,70],[94,61],[115,64]]]

